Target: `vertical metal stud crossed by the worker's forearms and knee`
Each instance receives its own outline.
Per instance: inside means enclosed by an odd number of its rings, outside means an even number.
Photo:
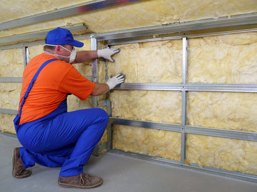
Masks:
[[[91,38],[91,50],[96,51],[97,49],[98,49],[98,42],[97,42],[96,38],[92,37]],[[98,59],[93,59],[92,60],[92,76],[96,77],[96,82],[99,81],[99,77],[98,77]],[[93,96],[92,99],[93,99],[93,103],[92,103],[93,108],[97,108],[97,106],[98,106],[97,105],[98,96]],[[93,154],[95,156],[100,156],[100,151],[99,151],[99,145],[98,144],[96,145]]]

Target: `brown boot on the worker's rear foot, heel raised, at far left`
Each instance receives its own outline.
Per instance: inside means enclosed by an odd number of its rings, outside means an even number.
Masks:
[[[31,172],[29,170],[26,170],[26,168],[22,164],[20,147],[14,148],[12,154],[12,176],[17,179],[22,179],[29,177],[30,175]]]

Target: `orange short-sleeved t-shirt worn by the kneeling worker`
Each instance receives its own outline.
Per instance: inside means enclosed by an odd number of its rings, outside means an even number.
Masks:
[[[45,61],[54,58],[56,57],[42,53],[29,61],[23,72],[20,104],[35,73]],[[85,100],[94,88],[95,83],[83,77],[74,66],[65,61],[52,61],[36,78],[24,102],[20,124],[39,119],[56,110],[67,93]]]

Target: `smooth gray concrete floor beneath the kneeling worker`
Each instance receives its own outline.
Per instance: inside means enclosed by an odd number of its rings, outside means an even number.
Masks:
[[[60,167],[35,165],[32,175],[15,179],[11,175],[12,150],[21,146],[19,140],[0,134],[0,191],[82,191],[64,188],[57,183]],[[155,162],[105,153],[91,157],[84,173],[101,177],[103,185],[94,191],[257,191],[257,183],[196,172]]]

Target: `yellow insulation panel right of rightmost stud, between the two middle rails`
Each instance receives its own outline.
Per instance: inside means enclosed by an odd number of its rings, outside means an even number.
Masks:
[[[187,124],[257,132],[257,94],[189,92]]]

